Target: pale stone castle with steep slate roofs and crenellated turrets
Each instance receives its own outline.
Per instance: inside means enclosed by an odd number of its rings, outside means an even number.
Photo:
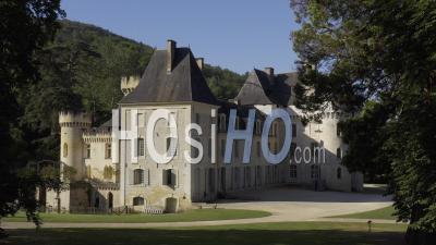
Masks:
[[[303,124],[301,111],[293,106],[296,73],[275,74],[272,68],[255,69],[239,95],[233,100],[222,101],[216,99],[207,86],[203,66],[204,60],[195,59],[190,48],[179,48],[175,41],[168,40],[165,50],[154,52],[142,77],[121,79],[124,97],[114,117],[121,130],[130,130],[132,120],[136,121],[140,127],[135,142],[114,138],[112,120],[93,127],[88,114],[60,113],[60,162],[74,173],[69,177],[66,189],[47,193],[47,206],[71,211],[128,206],[143,211],[175,212],[189,209],[196,201],[211,201],[232,193],[276,185],[344,192],[362,189],[362,173],[350,173],[341,164],[347,145],[341,140],[338,122],[343,115],[330,110],[323,114],[322,122]],[[292,149],[278,164],[268,163],[261,150],[264,119],[275,108],[284,109],[292,119]],[[203,134],[194,137],[202,143],[205,154],[197,164],[185,162],[183,151],[196,152],[183,137],[178,137],[177,149],[170,149],[174,154],[170,162],[159,164],[150,158],[143,125],[157,109],[167,109],[174,114],[175,122],[181,125],[178,126],[179,135],[184,135],[184,125],[194,122],[201,125]],[[243,140],[233,142],[231,162],[223,162],[232,109],[238,111],[237,130],[246,127],[249,110],[256,111],[249,163],[242,162]],[[135,117],[132,117],[133,111]],[[215,132],[211,132],[213,123],[217,125]],[[211,133],[216,137],[211,137]],[[168,135],[168,123],[158,121],[153,134],[158,151],[170,148]],[[283,135],[283,125],[276,120],[267,138],[270,151],[281,149]],[[213,145],[216,146],[215,163],[211,163]],[[324,149],[325,163],[317,163],[316,158],[305,163],[292,160],[298,154],[296,147],[315,149],[319,146]],[[305,151],[299,154],[305,157]]]

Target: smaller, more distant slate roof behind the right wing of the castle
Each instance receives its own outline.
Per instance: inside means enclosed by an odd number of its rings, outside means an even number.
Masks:
[[[274,76],[264,71],[250,73],[235,100],[240,105],[291,105],[292,87],[298,81],[296,73],[283,73]]]

